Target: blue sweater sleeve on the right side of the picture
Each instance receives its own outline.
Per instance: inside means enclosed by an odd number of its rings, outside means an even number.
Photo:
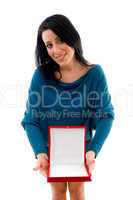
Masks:
[[[97,73],[96,83],[96,89],[92,93],[93,98],[91,98],[91,129],[95,130],[95,133],[87,146],[87,151],[94,151],[97,157],[111,130],[114,120],[114,107],[111,103],[106,76],[101,67],[99,67]]]

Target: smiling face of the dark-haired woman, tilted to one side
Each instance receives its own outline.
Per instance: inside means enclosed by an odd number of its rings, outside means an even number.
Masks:
[[[69,65],[74,59],[74,48],[67,45],[50,29],[42,33],[42,40],[49,56],[60,66]]]

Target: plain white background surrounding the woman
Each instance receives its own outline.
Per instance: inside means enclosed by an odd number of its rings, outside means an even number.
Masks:
[[[130,0],[3,1],[0,5],[0,199],[50,200],[50,186],[20,126],[34,65],[36,34],[64,14],[80,33],[84,55],[107,75],[115,121],[96,160],[86,200],[133,199],[133,6]]]

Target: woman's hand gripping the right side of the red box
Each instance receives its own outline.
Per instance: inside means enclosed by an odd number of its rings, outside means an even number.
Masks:
[[[89,168],[89,172],[92,173],[95,167],[95,152],[94,151],[88,151],[86,153],[86,162]]]

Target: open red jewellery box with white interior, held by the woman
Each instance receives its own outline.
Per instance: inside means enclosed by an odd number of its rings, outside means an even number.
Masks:
[[[49,126],[47,182],[91,181],[85,135],[85,126]]]

